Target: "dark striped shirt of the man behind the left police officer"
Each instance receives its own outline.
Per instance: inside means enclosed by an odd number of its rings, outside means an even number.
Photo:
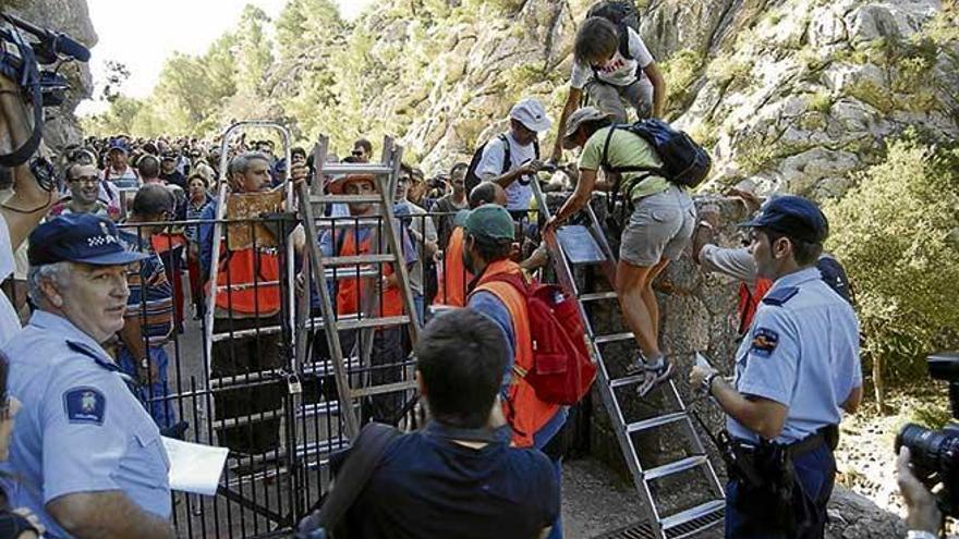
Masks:
[[[149,253],[150,257],[131,264],[126,270],[126,317],[139,317],[141,331],[149,346],[161,346],[173,332],[173,287],[163,271],[163,261],[150,246],[147,237],[120,231],[128,250]]]

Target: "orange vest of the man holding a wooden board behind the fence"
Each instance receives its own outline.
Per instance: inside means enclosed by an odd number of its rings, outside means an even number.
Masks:
[[[226,260],[217,272],[217,307],[243,315],[272,316],[280,310],[280,260],[252,247],[223,249]],[[254,287],[253,284],[256,283]]]

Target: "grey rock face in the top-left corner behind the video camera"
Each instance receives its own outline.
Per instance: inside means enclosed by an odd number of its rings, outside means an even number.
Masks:
[[[86,47],[97,42],[86,0],[17,0],[0,2],[0,8],[9,8],[12,13],[38,26],[68,34]],[[60,72],[68,76],[71,89],[62,106],[45,109],[44,143],[51,148],[80,140],[83,134],[73,111],[93,91],[88,65],[71,62],[64,64]]]

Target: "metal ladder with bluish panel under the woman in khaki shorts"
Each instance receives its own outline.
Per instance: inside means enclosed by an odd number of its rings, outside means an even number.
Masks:
[[[532,183],[533,193],[536,197],[539,211],[548,220],[549,208],[537,182]],[[626,457],[633,485],[640,493],[641,500],[647,511],[648,527],[653,537],[661,539],[676,539],[692,537],[723,522],[725,507],[724,490],[716,477],[713,464],[703,448],[700,437],[693,427],[690,415],[687,413],[676,384],[670,379],[660,384],[666,399],[675,400],[675,412],[665,412],[663,406],[657,406],[654,415],[634,419],[630,417],[631,406],[628,406],[624,397],[639,400],[635,388],[643,381],[640,376],[611,377],[610,360],[604,357],[607,345],[620,343],[620,346],[631,346],[630,353],[638,350],[631,332],[597,334],[594,322],[590,317],[587,304],[599,302],[612,302],[618,307],[615,292],[581,293],[573,277],[575,266],[597,265],[599,273],[608,281],[610,290],[615,290],[616,266],[615,257],[606,241],[606,235],[599,226],[596,215],[591,206],[583,210],[588,218],[588,224],[573,224],[561,226],[556,235],[545,237],[550,259],[554,262],[557,279],[560,285],[576,296],[580,314],[586,327],[586,341],[590,352],[595,358],[598,369],[596,385],[603,400],[603,405],[609,415],[612,430],[616,433],[620,450]],[[676,376],[676,375],[673,375]],[[681,432],[681,440],[670,440],[672,443],[682,442],[685,446],[684,454],[678,460],[665,464],[657,463],[650,466],[643,465],[641,451],[638,446],[638,438],[654,436],[657,429],[671,428]],[[660,452],[661,453],[661,452]],[[643,454],[643,457],[648,455]],[[668,491],[666,487],[656,488],[656,483],[664,480],[677,481],[679,478],[693,480],[680,483],[675,490]],[[660,483],[663,485],[663,483]],[[676,494],[687,494],[691,485],[702,486],[704,501],[694,502],[692,506],[685,506],[671,514],[665,514],[665,505],[669,504],[666,498],[676,498]],[[695,488],[695,487],[692,487]]]

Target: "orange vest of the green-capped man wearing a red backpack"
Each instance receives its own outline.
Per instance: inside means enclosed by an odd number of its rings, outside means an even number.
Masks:
[[[481,290],[489,292],[509,310],[515,338],[515,357],[507,400],[502,403],[503,415],[513,429],[513,445],[532,448],[533,434],[553,419],[559,412],[560,405],[541,401],[536,396],[536,391],[522,376],[533,368],[533,339],[530,333],[530,317],[526,315],[526,298],[509,283],[488,282],[493,275],[521,271],[520,266],[512,260],[493,262],[486,268],[483,278],[471,294]]]

